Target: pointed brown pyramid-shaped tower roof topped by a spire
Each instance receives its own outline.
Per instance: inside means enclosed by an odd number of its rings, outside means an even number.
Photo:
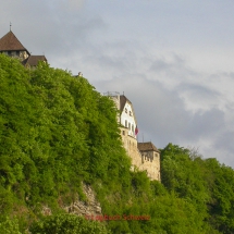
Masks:
[[[0,51],[27,51],[15,35],[10,30],[0,39]],[[28,52],[28,51],[27,51]],[[29,54],[29,52],[28,52]]]

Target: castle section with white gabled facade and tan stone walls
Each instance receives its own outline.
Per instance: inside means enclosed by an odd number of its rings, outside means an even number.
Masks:
[[[137,143],[137,120],[132,102],[119,93],[106,93],[114,101],[119,116],[121,137],[133,167],[146,171],[150,180],[161,181],[160,151],[151,141]]]

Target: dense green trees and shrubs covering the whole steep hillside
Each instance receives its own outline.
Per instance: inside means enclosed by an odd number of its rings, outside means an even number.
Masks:
[[[233,169],[169,144],[162,181],[150,182],[130,170],[116,113],[87,79],[0,54],[0,233],[234,233]],[[64,213],[61,204],[87,199],[82,182],[103,214],[122,219]]]

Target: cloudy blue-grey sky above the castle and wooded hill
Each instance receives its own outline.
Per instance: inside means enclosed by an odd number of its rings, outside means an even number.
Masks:
[[[138,141],[234,168],[234,1],[0,0],[12,32],[52,67],[132,101]]]

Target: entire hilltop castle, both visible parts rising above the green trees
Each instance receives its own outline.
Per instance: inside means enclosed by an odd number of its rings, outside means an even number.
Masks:
[[[32,56],[11,29],[0,38],[0,53],[16,58],[25,67],[30,69],[36,67],[39,61],[47,62],[45,56]],[[121,137],[123,146],[132,159],[133,168],[146,171],[150,180],[161,181],[160,151],[151,141],[137,143],[137,120],[132,102],[119,93],[104,95],[112,98],[119,110],[118,122],[120,123]]]

